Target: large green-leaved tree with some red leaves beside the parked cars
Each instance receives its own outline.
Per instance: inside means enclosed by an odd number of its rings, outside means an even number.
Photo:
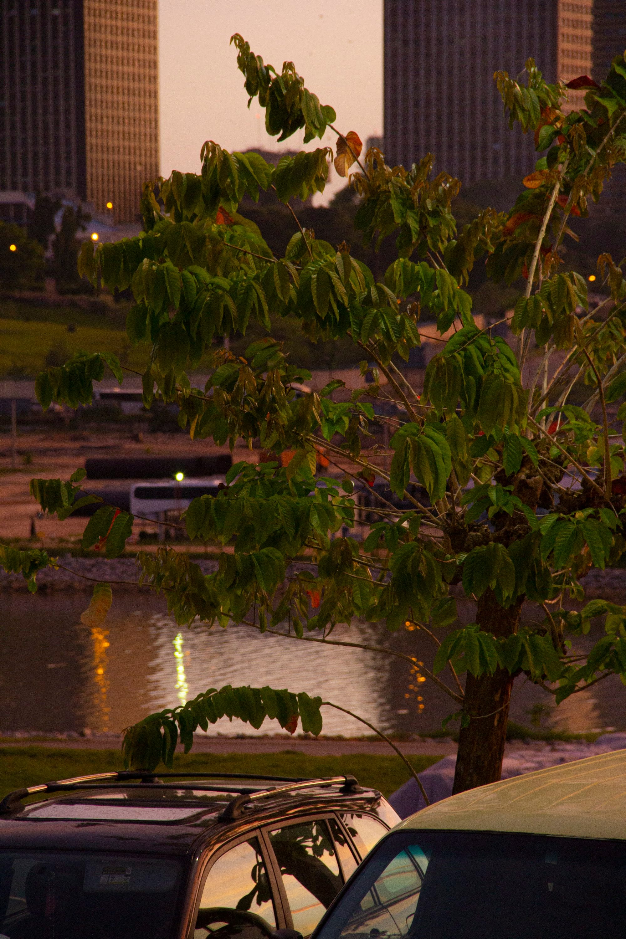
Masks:
[[[234,42],[269,133],[282,140],[303,131],[309,142],[327,127],[335,131],[332,108],[291,63],[279,74],[241,37]],[[208,142],[201,174],[175,172],[146,186],[141,235],[95,250],[86,244],[80,262],[92,283],[132,288],[127,331],[131,342],[152,348],[146,406],[155,395],[176,402],[191,439],[234,446],[259,438],[276,454],[296,452],[286,469],[239,463],[217,498],[191,502],[184,518],[191,539],[234,542],[234,552],[221,551],[216,573],[204,577],[186,555],[162,548],[138,555],[140,581],[163,593],[178,623],[198,617],[207,628],[236,622],[279,635],[287,624],[285,641],[343,645],[333,628],[357,617],[381,629],[417,627],[436,648],[433,671],[420,670],[449,696],[461,722],[456,791],[499,777],[516,675],[547,688],[557,703],[611,674],[626,681],[626,608],[602,601],[581,612],[567,608],[568,598],[584,599],[589,568],[614,562],[625,545],[624,447],[608,405],[626,393],[626,285],[620,265],[601,255],[600,279],[611,296],[592,315],[584,278],[560,268],[568,220],[587,214],[588,199],[600,196],[626,157],[626,63],[616,58],[602,86],[586,78],[571,83],[586,88],[587,107],[568,115],[566,87],[546,84],[532,60],[524,83],[506,73],[496,82],[511,127],[519,121],[534,134],[538,161],[510,211],[485,209],[461,229],[450,209],[460,184],[443,172],[434,177],[430,155],[408,169],[389,167],[377,149],[361,161],[357,134],[335,131],[335,166],[344,176],[353,171],[355,223],[366,245],[395,236],[397,257],[382,279],[345,244],[315,239],[296,211],[280,255],[240,214],[244,195],[274,192],[288,205],[323,190],[328,148],[284,156],[274,167]],[[481,258],[496,284],[526,278],[512,320],[515,348],[491,328],[479,329],[472,315],[464,285]],[[430,362],[419,397],[396,362],[419,345],[426,309],[441,333],[455,331]],[[191,385],[187,371],[216,338],[244,332],[251,318],[268,330],[270,313],[313,340],[349,336],[362,350],[363,372],[375,362],[374,383],[341,404],[331,397],[338,381],[297,396],[294,383],[307,375],[267,336],[245,357],[219,349],[206,387]],[[105,352],[49,368],[38,377],[43,407],[90,403],[105,365],[122,380]],[[576,377],[588,383],[584,407],[568,403]],[[396,408],[386,419],[389,471],[368,442],[376,399]],[[320,439],[334,464],[349,457],[353,469],[315,477]],[[42,509],[65,517],[72,505],[94,500],[81,492],[81,473],[67,483],[33,480]],[[410,509],[381,498],[363,543],[340,537],[354,524],[355,484],[375,478]],[[411,481],[427,500],[416,498]],[[131,524],[127,513],[102,505],[86,526],[84,547],[98,543],[116,557]],[[50,563],[43,553],[8,548],[4,559],[33,589],[38,567]],[[453,585],[475,604],[475,622],[462,628],[450,628],[457,622]],[[521,619],[525,600],[542,610],[533,622]],[[88,615],[98,619],[110,602],[110,588],[99,586]],[[596,617],[603,617],[603,638],[588,655],[573,654],[572,641]],[[318,732],[320,704],[267,688],[209,689],[130,729],[127,756],[156,765],[169,759],[178,732],[191,746],[191,731],[224,713],[255,726],[277,716],[291,730],[299,715]]]

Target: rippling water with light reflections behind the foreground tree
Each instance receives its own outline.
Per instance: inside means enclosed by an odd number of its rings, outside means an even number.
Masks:
[[[117,593],[98,629],[80,622],[88,604],[84,593],[5,593],[0,602],[0,731],[121,731],[208,687],[229,684],[321,695],[383,731],[428,733],[456,710],[419,665],[401,658],[261,636],[245,626],[181,629],[158,597]],[[472,610],[459,603],[466,622]],[[432,666],[431,640],[419,630],[387,633],[382,624],[354,623],[337,628],[333,638],[383,646]],[[598,638],[581,640],[581,651]],[[442,677],[449,681],[445,673]],[[626,687],[618,678],[573,696],[555,711],[551,696],[521,676],[513,689],[511,718],[528,725],[533,707],[541,709],[544,725],[562,730],[626,731]],[[331,708],[323,714],[326,733],[370,732]],[[225,718],[216,731],[255,732]],[[274,731],[280,731],[278,725],[267,721],[258,732]]]

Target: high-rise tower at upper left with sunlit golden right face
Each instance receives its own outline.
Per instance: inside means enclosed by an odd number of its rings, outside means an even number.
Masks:
[[[0,191],[134,222],[159,173],[158,0],[0,0]]]

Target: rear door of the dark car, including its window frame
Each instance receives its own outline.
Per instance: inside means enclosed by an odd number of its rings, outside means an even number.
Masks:
[[[267,826],[264,837],[273,855],[285,920],[307,939],[357,860],[343,829],[330,815]]]

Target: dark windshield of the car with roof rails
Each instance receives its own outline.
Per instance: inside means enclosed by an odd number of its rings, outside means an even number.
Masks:
[[[180,880],[171,860],[0,852],[0,934],[168,939]]]

